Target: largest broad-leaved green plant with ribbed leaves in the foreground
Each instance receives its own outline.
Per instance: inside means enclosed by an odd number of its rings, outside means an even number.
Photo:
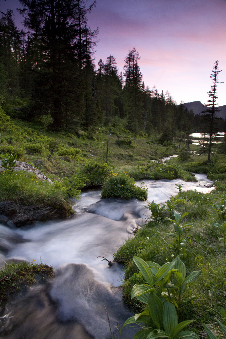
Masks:
[[[135,284],[131,298],[141,301],[144,311],[128,318],[123,327],[131,323],[142,324],[142,330],[135,334],[134,339],[199,339],[193,331],[182,331],[193,320],[178,323],[176,308],[196,298],[192,296],[181,300],[185,285],[196,280],[201,271],[186,277],[185,264],[178,256],[162,266],[139,257],[133,257],[133,261],[147,283]]]

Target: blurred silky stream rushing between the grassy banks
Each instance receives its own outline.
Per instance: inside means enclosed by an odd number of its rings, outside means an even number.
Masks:
[[[198,182],[146,180],[148,201],[165,202],[178,193],[211,188],[205,175]],[[137,182],[141,185],[141,181]],[[27,294],[8,303],[4,331],[0,338],[11,339],[105,339],[111,338],[108,319],[115,338],[120,338],[117,323],[131,316],[121,298],[123,267],[98,256],[113,259],[125,239],[149,216],[137,199],[100,200],[100,191],[86,192],[75,201],[75,216],[63,221],[37,222],[32,227],[11,230],[0,225],[0,248],[4,258],[36,260],[53,265],[55,278],[47,286],[34,285]],[[121,326],[122,327],[122,326]],[[125,327],[122,338],[133,338],[136,330]]]

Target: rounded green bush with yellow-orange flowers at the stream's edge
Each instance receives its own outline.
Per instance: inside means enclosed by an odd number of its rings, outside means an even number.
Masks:
[[[114,173],[105,183],[101,192],[101,198],[137,198],[147,199],[147,189],[135,185],[134,179],[127,172]]]

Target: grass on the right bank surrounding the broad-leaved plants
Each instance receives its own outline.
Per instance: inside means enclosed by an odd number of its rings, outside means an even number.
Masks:
[[[173,233],[174,229],[172,223],[164,218],[160,221],[149,220],[137,231],[134,238],[125,241],[118,249],[114,260],[125,266],[125,279],[122,283],[123,299],[134,312],[140,313],[142,305],[136,300],[131,300],[131,288],[135,283],[144,283],[144,281],[132,261],[133,256],[163,265],[180,254],[187,274],[198,270],[202,270],[202,274],[188,285],[183,297],[196,295],[197,298],[181,308],[179,320],[196,320],[197,332],[201,338],[206,338],[205,335],[202,336],[202,323],[214,324],[217,318],[225,324],[226,317],[221,308],[225,309],[226,252],[223,241],[218,241],[218,237],[222,237],[220,230],[211,225],[211,221],[222,224],[223,219],[210,205],[212,202],[221,200],[225,193],[224,186],[221,190],[215,188],[207,194],[196,191],[182,192],[174,198],[174,200],[183,201],[176,206],[178,212],[181,214],[185,211],[190,212],[184,222],[195,224],[195,226],[185,228],[184,234],[191,240],[189,239],[190,243],[181,245],[180,250],[175,246],[173,238],[167,236],[167,233]],[[218,334],[217,328],[214,331]],[[219,338],[221,338],[220,333],[219,331]]]

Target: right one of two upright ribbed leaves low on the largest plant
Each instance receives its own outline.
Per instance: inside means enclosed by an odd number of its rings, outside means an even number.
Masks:
[[[172,305],[169,301],[165,301],[163,305],[163,325],[164,330],[168,334],[168,336],[171,336],[171,333],[173,332],[174,327],[178,325],[178,317],[176,308],[174,305]]]

